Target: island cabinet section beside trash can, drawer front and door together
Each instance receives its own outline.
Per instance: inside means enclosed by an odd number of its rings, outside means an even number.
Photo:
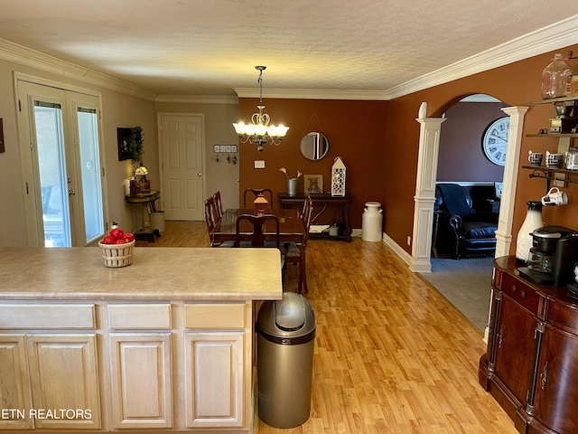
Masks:
[[[187,428],[247,428],[252,304],[187,303],[183,314]]]

